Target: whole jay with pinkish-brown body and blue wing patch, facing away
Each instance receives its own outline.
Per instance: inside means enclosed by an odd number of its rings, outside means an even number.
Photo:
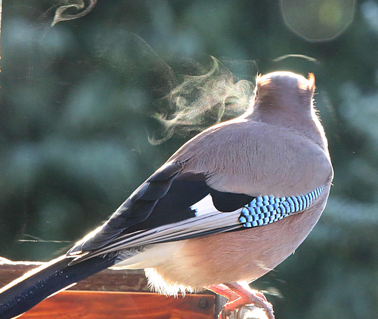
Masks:
[[[221,294],[218,318],[254,304],[273,319],[242,283],[290,256],[325,208],[333,168],[314,90],[313,73],[258,74],[243,115],[187,141],[67,254],[4,286],[0,319],[106,268],[145,269],[166,295]]]

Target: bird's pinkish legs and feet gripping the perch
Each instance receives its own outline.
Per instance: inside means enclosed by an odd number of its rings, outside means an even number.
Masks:
[[[207,287],[209,290],[229,298],[227,304],[222,308],[218,315],[218,319],[228,319],[232,311],[237,310],[245,305],[254,304],[256,307],[262,308],[268,319],[274,319],[273,306],[266,300],[263,293],[245,288],[239,283],[225,283],[224,285],[216,285]],[[237,298],[235,297],[237,296]]]

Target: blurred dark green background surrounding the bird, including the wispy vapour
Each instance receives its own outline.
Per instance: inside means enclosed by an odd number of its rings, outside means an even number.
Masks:
[[[376,318],[378,2],[99,0],[50,27],[65,3],[3,3],[0,256],[64,253],[196,132],[240,114],[257,71],[314,72],[334,186],[252,286],[279,319]]]

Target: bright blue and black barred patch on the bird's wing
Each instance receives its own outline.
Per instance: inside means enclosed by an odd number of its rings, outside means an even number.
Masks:
[[[298,197],[256,197],[251,203],[242,208],[239,221],[244,227],[256,227],[273,223],[273,221],[308,208],[322,194],[323,188],[324,186],[320,186],[312,192]]]

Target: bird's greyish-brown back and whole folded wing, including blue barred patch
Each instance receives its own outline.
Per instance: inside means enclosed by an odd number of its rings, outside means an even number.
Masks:
[[[67,256],[260,226],[306,209],[332,167],[328,172],[328,158],[315,144],[281,131],[230,121],[197,135]],[[251,193],[253,187],[260,192]]]

